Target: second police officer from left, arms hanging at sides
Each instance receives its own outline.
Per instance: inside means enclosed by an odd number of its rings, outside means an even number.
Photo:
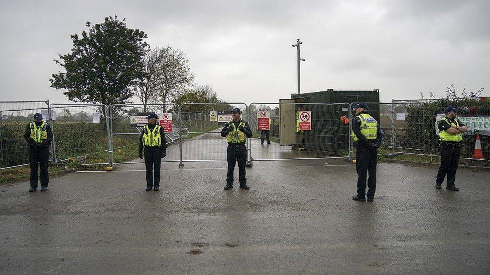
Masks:
[[[162,158],[167,156],[167,140],[163,127],[157,124],[157,114],[151,113],[146,118],[148,124],[141,132],[138,154],[142,159],[143,148],[145,149],[146,190],[151,191],[153,187],[155,191],[158,191],[160,188],[160,165]]]

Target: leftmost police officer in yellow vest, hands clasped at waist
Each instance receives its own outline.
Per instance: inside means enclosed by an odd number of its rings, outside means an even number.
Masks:
[[[49,146],[53,140],[53,131],[48,123],[43,121],[40,113],[34,114],[34,121],[26,126],[24,139],[29,144],[29,165],[31,167],[31,189],[38,188],[38,165],[41,170],[41,191],[48,189]]]

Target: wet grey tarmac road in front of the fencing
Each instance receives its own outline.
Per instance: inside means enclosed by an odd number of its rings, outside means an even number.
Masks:
[[[0,186],[0,273],[490,272],[490,172],[380,163],[374,202],[351,200],[342,160],[255,162],[223,190],[225,162],[72,173],[47,192]],[[237,169],[235,169],[237,178]]]

